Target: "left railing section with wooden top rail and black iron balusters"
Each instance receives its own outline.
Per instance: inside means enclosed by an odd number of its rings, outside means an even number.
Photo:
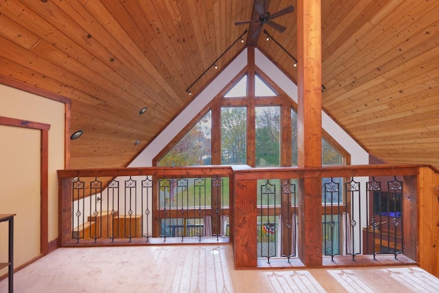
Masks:
[[[233,211],[232,174],[222,166],[60,170],[60,243],[224,237],[224,219]]]

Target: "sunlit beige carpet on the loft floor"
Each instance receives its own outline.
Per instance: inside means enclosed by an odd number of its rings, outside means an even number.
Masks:
[[[230,244],[59,248],[16,272],[14,292],[439,292],[439,279],[416,266],[234,270]]]

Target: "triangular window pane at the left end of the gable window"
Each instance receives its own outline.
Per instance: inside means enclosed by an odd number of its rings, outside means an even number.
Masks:
[[[211,165],[211,111],[171,148],[158,166]]]

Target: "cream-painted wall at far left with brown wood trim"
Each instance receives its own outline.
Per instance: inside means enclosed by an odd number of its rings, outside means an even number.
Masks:
[[[65,105],[0,84],[0,116],[50,125],[47,187],[50,242],[58,237],[57,170],[64,169]],[[40,254],[40,130],[1,126],[0,134],[0,153],[3,154],[0,155],[0,213],[16,213],[16,267]],[[0,242],[5,240],[3,226],[0,227]],[[1,256],[6,250],[0,250]],[[4,257],[0,257],[1,261]]]

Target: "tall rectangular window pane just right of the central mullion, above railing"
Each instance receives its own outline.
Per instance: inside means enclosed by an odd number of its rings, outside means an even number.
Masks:
[[[281,107],[257,107],[256,166],[280,166]]]

